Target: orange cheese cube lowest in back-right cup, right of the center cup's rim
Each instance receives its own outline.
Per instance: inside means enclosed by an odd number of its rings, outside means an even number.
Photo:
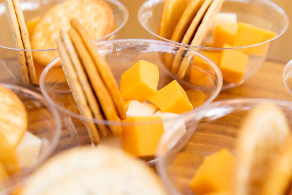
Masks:
[[[230,47],[224,44],[223,47]],[[249,55],[235,49],[222,51],[218,67],[221,70],[223,79],[227,82],[238,83],[241,81]]]

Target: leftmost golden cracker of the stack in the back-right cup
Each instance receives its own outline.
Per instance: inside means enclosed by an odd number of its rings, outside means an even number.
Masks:
[[[180,16],[191,0],[164,1],[158,27],[158,35],[170,39]]]

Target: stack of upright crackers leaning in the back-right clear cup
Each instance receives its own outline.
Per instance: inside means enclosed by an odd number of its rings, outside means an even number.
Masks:
[[[166,0],[158,35],[182,44],[204,46],[222,5],[223,0]],[[191,60],[189,53],[178,50],[176,55],[169,54],[164,63],[171,73],[183,78]]]

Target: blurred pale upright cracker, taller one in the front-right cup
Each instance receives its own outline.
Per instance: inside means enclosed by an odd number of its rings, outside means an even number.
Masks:
[[[251,109],[239,130],[235,194],[258,194],[271,162],[291,137],[285,113],[274,104]]]

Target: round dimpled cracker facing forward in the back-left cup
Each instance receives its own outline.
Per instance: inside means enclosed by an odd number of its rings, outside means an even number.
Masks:
[[[78,18],[93,39],[99,39],[112,30],[114,16],[102,0],[65,0],[48,10],[36,24],[31,37],[32,49],[53,49],[61,27],[70,28],[70,19]],[[34,52],[34,60],[46,66],[58,56],[57,51]]]

